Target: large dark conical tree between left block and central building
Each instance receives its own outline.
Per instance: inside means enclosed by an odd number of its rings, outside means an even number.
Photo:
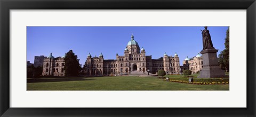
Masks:
[[[78,76],[79,70],[81,70],[81,66],[79,64],[79,59],[77,59],[77,56],[75,53],[73,53],[73,50],[69,50],[66,53],[64,61],[65,76]]]

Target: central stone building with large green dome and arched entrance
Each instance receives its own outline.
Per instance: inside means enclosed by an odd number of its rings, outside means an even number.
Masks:
[[[165,70],[166,74],[179,74],[180,64],[179,56],[175,53],[174,57],[166,53],[159,59],[152,59],[146,55],[146,50],[140,49],[137,41],[134,40],[133,34],[131,41],[127,43],[124,49],[124,56],[116,54],[116,59],[105,60],[102,53],[99,57],[87,55],[85,61],[85,75],[111,75],[111,74],[130,74],[132,72],[155,74],[158,70]]]

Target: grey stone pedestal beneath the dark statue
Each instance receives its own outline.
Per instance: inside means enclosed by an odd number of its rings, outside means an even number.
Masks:
[[[226,77],[225,71],[219,67],[217,52],[218,50],[215,48],[208,48],[200,52],[203,55],[203,68],[198,78]]]

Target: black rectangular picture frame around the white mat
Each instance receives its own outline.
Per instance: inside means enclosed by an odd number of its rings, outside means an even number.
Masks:
[[[255,116],[255,0],[1,0],[1,116]],[[56,9],[216,9],[246,10],[246,108],[10,108],[10,10]],[[238,22],[239,23],[239,22]],[[243,78],[241,78],[243,80]],[[150,103],[150,102],[149,102]],[[234,102],[235,103],[235,102]]]

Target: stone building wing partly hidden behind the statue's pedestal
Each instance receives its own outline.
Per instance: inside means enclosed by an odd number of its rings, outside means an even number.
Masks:
[[[193,58],[185,58],[183,60],[183,66],[182,71],[189,69],[192,74],[196,74],[198,71],[202,70],[203,66],[203,57],[200,55],[200,53],[197,53],[197,55]]]

